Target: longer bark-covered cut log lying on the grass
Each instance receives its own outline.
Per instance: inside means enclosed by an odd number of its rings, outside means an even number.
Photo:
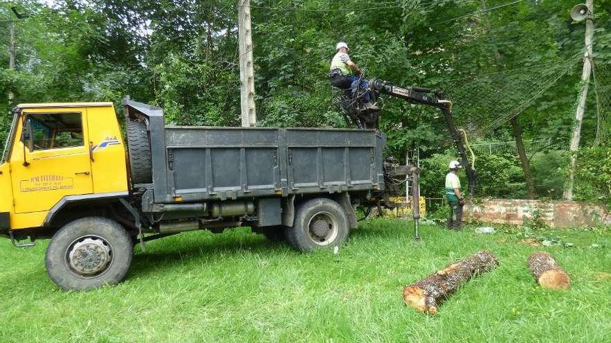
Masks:
[[[435,314],[437,305],[456,292],[471,277],[493,270],[499,261],[492,252],[482,251],[448,265],[417,283],[403,288],[403,300],[408,306]]]

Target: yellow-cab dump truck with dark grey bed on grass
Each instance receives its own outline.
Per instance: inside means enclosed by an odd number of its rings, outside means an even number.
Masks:
[[[385,188],[377,130],[169,127],[158,107],[22,104],[0,164],[0,235],[51,238],[66,290],[117,283],[133,245],[182,231],[251,227],[309,252],[356,227]]]

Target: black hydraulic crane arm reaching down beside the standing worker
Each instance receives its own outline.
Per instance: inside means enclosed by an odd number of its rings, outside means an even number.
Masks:
[[[471,167],[469,159],[467,159],[467,151],[464,149],[464,141],[462,135],[456,129],[454,119],[452,118],[452,102],[447,100],[438,89],[429,89],[421,87],[397,87],[392,85],[390,82],[376,79],[369,82],[369,87],[375,91],[379,91],[382,94],[393,96],[394,98],[401,98],[408,103],[429,105],[437,107],[444,114],[446,126],[450,132],[454,145],[458,149],[460,155],[460,164],[464,166],[464,170],[467,172],[467,178],[469,179],[469,193],[474,195],[476,172]]]

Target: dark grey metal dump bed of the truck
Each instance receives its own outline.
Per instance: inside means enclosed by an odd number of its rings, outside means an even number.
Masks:
[[[124,100],[147,123],[155,203],[384,188],[374,130],[165,127],[162,109]]]

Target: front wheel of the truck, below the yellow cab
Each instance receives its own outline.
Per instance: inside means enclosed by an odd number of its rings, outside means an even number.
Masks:
[[[88,217],[69,222],[51,238],[45,265],[63,290],[90,290],[122,281],[132,256],[132,240],[121,225]]]

